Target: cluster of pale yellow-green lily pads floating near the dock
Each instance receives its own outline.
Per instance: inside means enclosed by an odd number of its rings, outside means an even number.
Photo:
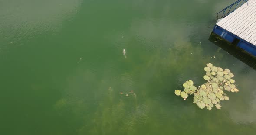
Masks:
[[[229,97],[224,91],[238,92],[235,80],[231,79],[234,74],[229,69],[222,69],[215,67],[213,64],[208,63],[204,67],[206,75],[203,76],[206,83],[201,86],[195,87],[192,80],[187,80],[184,84],[184,91],[175,90],[177,96],[181,96],[184,100],[187,99],[188,94],[194,95],[193,103],[201,109],[207,108],[211,110],[214,106],[217,109],[221,108],[220,101],[229,100]]]

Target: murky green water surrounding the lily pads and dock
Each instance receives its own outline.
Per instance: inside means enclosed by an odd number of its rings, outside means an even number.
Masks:
[[[208,41],[233,2],[0,0],[0,134],[253,135],[256,71]],[[208,62],[240,89],[221,110],[174,95]]]

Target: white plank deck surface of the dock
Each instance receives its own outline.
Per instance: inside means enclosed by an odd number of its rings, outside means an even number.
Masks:
[[[217,25],[256,45],[256,0],[247,0],[241,7],[220,20]]]

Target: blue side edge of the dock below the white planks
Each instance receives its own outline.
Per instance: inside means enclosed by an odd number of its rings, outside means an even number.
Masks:
[[[233,33],[226,31],[222,27],[215,25],[213,28],[213,33],[219,35],[222,39],[225,39],[226,41],[233,43],[234,41],[239,40],[239,42],[236,44],[238,48],[243,49],[244,51],[248,52],[249,54],[252,54],[256,57],[256,46],[247,42],[246,40],[241,39],[237,35],[234,35]]]

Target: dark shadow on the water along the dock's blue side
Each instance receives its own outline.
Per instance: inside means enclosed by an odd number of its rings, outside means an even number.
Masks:
[[[221,39],[219,35],[215,33],[211,33],[209,39],[210,42],[213,42],[215,45],[219,46],[230,55],[233,55],[235,58],[239,59],[243,63],[247,64],[248,66],[252,67],[256,70],[256,57],[247,53],[241,48],[236,47],[236,43],[227,42],[224,39]]]

